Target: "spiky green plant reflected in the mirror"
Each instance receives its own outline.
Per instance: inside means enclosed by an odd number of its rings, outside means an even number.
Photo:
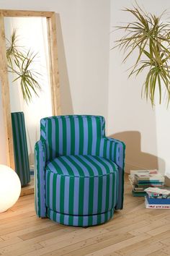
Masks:
[[[37,54],[17,46],[17,41],[18,35],[16,30],[14,30],[11,38],[6,38],[8,71],[14,74],[13,82],[19,80],[24,101],[29,103],[32,99],[32,93],[38,96],[41,89],[37,79],[40,77],[40,74],[32,69],[32,64],[34,64]]]

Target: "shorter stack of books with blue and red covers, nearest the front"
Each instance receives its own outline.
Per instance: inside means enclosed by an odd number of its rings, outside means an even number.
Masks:
[[[170,190],[148,187],[145,191],[146,208],[170,209]]]

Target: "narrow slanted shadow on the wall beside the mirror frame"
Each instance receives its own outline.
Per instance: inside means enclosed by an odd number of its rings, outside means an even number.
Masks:
[[[73,114],[73,104],[71,101],[71,90],[68,80],[66,56],[64,51],[63,35],[61,30],[61,19],[59,14],[56,14],[56,24],[58,43],[58,69],[61,86],[61,114]]]

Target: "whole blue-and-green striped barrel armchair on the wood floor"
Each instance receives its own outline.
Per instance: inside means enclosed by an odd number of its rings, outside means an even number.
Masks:
[[[123,206],[125,144],[105,137],[102,116],[52,116],[40,121],[35,145],[37,216],[93,226]]]

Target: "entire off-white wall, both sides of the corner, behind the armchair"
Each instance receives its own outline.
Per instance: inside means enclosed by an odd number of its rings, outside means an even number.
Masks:
[[[127,0],[0,0],[0,8],[60,14],[57,17],[58,61],[63,114],[101,114],[107,118],[108,113],[107,134],[125,140],[127,145],[127,171],[159,168],[169,172],[169,110],[164,106],[153,110],[150,103],[142,100],[143,75],[128,80],[125,71],[133,61],[121,64],[120,52],[109,51],[121,35],[109,35],[112,26],[130,20],[120,9],[133,3]],[[138,0],[138,3],[156,14],[169,8],[169,0]]]

